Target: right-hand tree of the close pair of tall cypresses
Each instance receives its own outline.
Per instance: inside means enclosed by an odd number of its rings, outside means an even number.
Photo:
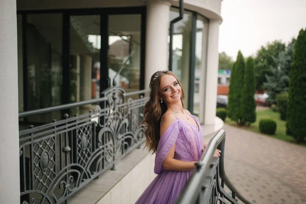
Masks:
[[[254,62],[251,57],[247,58],[244,74],[244,86],[241,98],[241,125],[249,125],[256,121],[256,102],[254,93],[256,89],[256,77]]]

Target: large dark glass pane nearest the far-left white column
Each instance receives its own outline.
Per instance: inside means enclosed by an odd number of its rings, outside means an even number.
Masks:
[[[27,110],[61,105],[62,14],[30,14],[27,17]],[[60,111],[33,116],[29,120],[49,122],[50,118],[60,119]]]

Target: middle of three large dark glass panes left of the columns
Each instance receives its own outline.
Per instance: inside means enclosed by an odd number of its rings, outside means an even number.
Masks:
[[[100,16],[70,16],[70,103],[99,97]],[[72,114],[92,107],[73,108]]]

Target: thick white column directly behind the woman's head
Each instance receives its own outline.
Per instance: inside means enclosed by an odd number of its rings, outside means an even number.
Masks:
[[[168,69],[170,6],[168,1],[147,1],[145,89],[148,89],[154,72]]]

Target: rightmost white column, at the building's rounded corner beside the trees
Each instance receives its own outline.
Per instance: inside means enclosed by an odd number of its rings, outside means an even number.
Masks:
[[[221,21],[211,20],[208,32],[207,75],[206,75],[206,101],[205,124],[214,124],[216,117],[218,66],[219,66],[219,25]]]

